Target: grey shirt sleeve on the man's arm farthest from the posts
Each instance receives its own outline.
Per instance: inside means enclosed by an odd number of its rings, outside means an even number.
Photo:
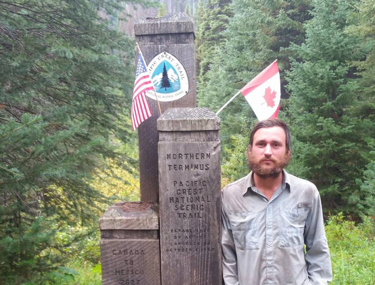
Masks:
[[[325,285],[328,284],[328,281],[332,280],[331,256],[324,231],[320,195],[315,186],[314,188],[311,215],[306,219],[304,233],[307,271],[312,284]]]

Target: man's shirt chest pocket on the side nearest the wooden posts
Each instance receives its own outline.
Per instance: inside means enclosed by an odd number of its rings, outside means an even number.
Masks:
[[[259,249],[258,213],[230,213],[228,214],[234,244],[237,249]]]

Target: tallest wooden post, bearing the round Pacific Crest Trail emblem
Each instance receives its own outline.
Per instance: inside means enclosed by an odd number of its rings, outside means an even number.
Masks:
[[[134,29],[162,112],[170,107],[195,107],[193,20],[184,13],[174,13],[161,18],[140,19]],[[169,79],[169,87],[163,84],[166,79]],[[153,116],[138,127],[141,201],[159,201],[156,129],[159,110],[156,97],[151,93],[146,95]]]

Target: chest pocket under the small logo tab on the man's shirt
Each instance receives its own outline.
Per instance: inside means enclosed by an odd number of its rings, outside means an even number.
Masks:
[[[303,233],[309,208],[280,210],[280,246],[294,247],[304,242]]]

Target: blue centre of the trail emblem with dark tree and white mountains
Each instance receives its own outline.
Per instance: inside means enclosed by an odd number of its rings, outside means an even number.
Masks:
[[[162,61],[152,75],[152,83],[157,93],[168,94],[180,90],[180,78],[174,67],[166,60]]]

